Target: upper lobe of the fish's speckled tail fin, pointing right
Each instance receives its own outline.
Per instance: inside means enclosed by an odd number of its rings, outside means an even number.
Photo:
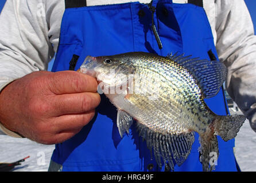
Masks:
[[[224,141],[231,140],[236,137],[245,120],[245,116],[237,114],[232,116],[218,116],[213,124],[215,134],[222,137]]]

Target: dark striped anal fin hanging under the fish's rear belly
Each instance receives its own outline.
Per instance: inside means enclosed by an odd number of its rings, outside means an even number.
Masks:
[[[146,140],[150,152],[154,150],[154,157],[158,166],[169,165],[174,170],[174,165],[181,165],[191,152],[195,140],[194,133],[164,134],[154,132],[145,125],[136,122],[139,136]]]

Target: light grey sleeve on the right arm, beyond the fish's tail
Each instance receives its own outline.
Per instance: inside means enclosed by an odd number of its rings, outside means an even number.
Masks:
[[[256,36],[243,0],[216,1],[216,49],[227,66],[230,97],[256,132]]]

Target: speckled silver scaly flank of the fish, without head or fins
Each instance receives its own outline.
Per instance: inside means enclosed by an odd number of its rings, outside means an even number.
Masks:
[[[208,110],[196,79],[187,69],[172,59],[151,54],[138,54],[133,62],[134,92],[122,102],[114,102],[118,109],[129,112],[155,132],[205,132],[214,114]]]

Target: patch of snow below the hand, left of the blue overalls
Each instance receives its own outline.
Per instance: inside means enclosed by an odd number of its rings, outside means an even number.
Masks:
[[[48,170],[55,145],[42,145],[27,138],[0,134],[0,162],[14,162],[30,156],[14,172],[45,172]]]

